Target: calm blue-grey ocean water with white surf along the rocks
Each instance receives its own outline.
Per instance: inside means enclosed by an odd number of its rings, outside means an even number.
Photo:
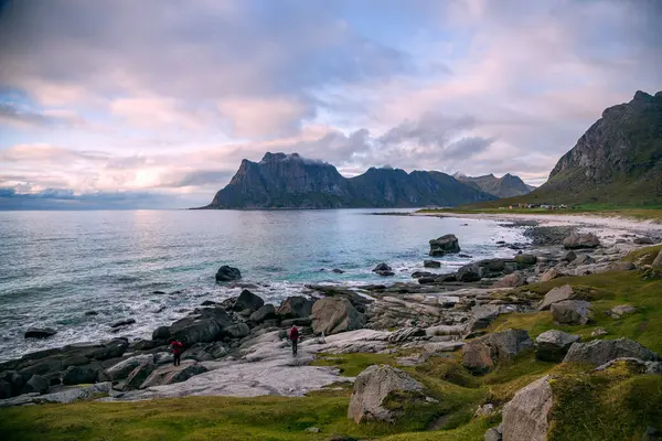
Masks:
[[[0,359],[110,336],[150,337],[204,300],[241,292],[216,283],[222,265],[239,268],[242,281],[256,286],[253,292],[278,304],[306,292],[305,283],[412,280],[429,258],[428,240],[445,234],[458,236],[462,254],[471,257],[437,259],[442,267],[433,272],[512,257],[495,243],[526,241],[522,229],[493,220],[376,212],[0,212]],[[372,272],[382,261],[394,277]],[[129,318],[136,324],[113,333],[111,323]],[[23,338],[31,326],[57,334]]]

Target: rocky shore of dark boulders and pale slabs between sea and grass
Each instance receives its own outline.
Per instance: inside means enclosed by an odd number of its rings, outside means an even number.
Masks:
[[[92,397],[105,401],[191,395],[295,397],[343,381],[354,384],[349,417],[356,422],[397,419],[398,411],[385,406],[392,392],[405,394],[408,401],[435,402],[424,386],[395,367],[371,366],[353,378],[317,363],[356,353],[396,355],[402,366],[458,354],[462,367],[474,376],[525,351],[535,351],[548,363],[579,362],[604,370],[624,359],[639,370],[662,373],[658,354],[630,340],[583,343],[577,335],[551,330],[534,341],[516,329],[489,332],[499,316],[517,312],[543,311],[558,327],[591,321],[591,298],[580,289],[567,284],[532,293],[530,284],[607,271],[653,276],[662,271],[662,251],[649,263],[623,260],[660,243],[655,232],[596,235],[579,226],[526,226],[531,243],[502,244],[513,250],[512,258],[473,261],[453,273],[435,272],[439,268],[435,257],[461,251],[457,238],[446,235],[430,240],[431,257],[421,256],[421,269],[410,282],[309,284],[308,297],[290,297],[278,305],[265,304],[245,289],[222,303],[205,301],[188,316],[156,329],[151,340],[117,337],[26,354],[0,364],[0,407]],[[388,280],[387,263],[375,271]],[[241,271],[222,267],[216,278],[237,280]],[[618,305],[609,314],[620,318],[636,310]],[[286,338],[292,325],[302,334],[296,357]],[[31,332],[46,336],[49,330]],[[185,346],[180,366],[172,365],[171,338]],[[503,407],[500,428],[490,429],[485,439],[515,440],[544,432],[544,424],[522,428],[521,421],[532,418],[533,411],[548,411],[548,384],[544,377],[520,390]]]

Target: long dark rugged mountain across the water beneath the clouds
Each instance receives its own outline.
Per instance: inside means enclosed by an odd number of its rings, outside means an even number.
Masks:
[[[297,153],[243,160],[229,183],[205,208],[348,208],[452,206],[494,196],[440,172],[367,170],[351,179]]]

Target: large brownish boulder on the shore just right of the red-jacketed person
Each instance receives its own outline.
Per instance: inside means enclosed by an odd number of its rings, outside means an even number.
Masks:
[[[338,334],[363,327],[365,316],[345,298],[323,298],[312,305],[312,330],[316,333]]]

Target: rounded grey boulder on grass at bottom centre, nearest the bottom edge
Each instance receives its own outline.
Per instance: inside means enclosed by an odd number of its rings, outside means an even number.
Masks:
[[[372,365],[354,381],[348,418],[356,423],[370,420],[394,422],[402,410],[386,408],[386,401],[401,397],[397,401],[424,398],[423,389],[423,385],[401,369]]]

